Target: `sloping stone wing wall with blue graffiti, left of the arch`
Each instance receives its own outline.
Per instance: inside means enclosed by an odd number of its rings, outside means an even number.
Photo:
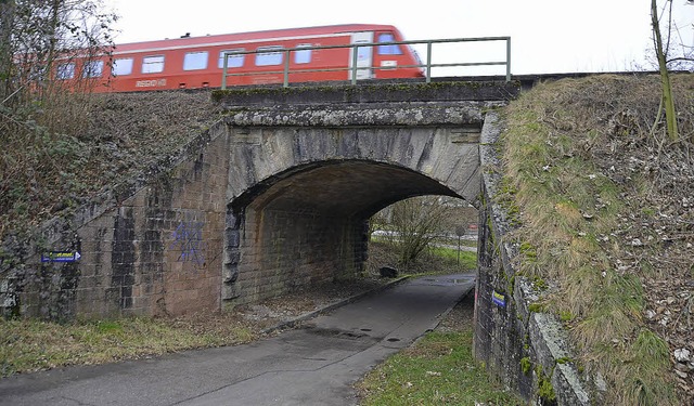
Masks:
[[[69,319],[219,309],[227,136],[202,137],[129,197],[114,194],[47,228],[36,253],[0,275],[3,312]],[[81,258],[41,261],[50,252]]]

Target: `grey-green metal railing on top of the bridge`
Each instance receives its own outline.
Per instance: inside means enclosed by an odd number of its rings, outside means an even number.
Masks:
[[[492,61],[492,62],[461,62],[461,63],[445,63],[445,64],[434,64],[433,61],[433,45],[439,43],[461,43],[461,42],[487,42],[487,41],[505,41],[506,43],[506,55],[505,61]],[[387,45],[414,45],[414,44],[425,44],[426,45],[426,55],[425,63],[420,61],[419,64],[414,65],[399,65],[397,67],[393,66],[358,66],[358,56],[359,48],[365,47],[387,47]],[[349,67],[335,67],[335,68],[293,68],[290,69],[290,61],[293,52],[299,51],[312,51],[312,50],[333,50],[333,49],[351,49],[351,66]],[[284,53],[283,55],[283,69],[282,70],[255,70],[255,71],[243,71],[243,73],[229,73],[229,58],[232,56],[239,55],[248,55],[248,54],[259,54],[259,53]],[[290,75],[292,74],[306,74],[306,73],[325,73],[325,71],[349,71],[351,84],[357,83],[357,73],[360,70],[393,70],[394,68],[403,69],[403,68],[423,68],[424,76],[426,82],[430,82],[432,80],[432,69],[433,68],[446,68],[446,67],[465,67],[465,66],[493,66],[493,65],[504,65],[506,67],[506,81],[511,81],[511,37],[480,37],[480,38],[457,38],[457,39],[435,39],[435,40],[421,40],[421,41],[393,41],[393,42],[369,42],[369,43],[351,43],[351,44],[343,44],[343,45],[317,45],[317,47],[298,47],[298,48],[288,48],[288,49],[278,49],[278,50],[268,50],[268,49],[259,49],[255,51],[230,51],[223,53],[223,66],[222,66],[222,79],[221,79],[221,88],[227,89],[227,78],[229,77],[241,77],[241,76],[259,76],[259,75],[282,75],[284,87],[290,86]],[[232,68],[234,69],[234,68]]]

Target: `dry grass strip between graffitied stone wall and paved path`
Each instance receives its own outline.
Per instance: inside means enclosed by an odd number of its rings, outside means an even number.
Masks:
[[[222,318],[131,317],[69,324],[0,318],[0,377],[239,344],[255,338],[249,328]]]

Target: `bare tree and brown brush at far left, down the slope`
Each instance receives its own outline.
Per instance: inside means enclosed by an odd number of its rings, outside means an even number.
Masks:
[[[114,21],[102,0],[0,0],[0,239],[44,210],[36,198],[43,184],[70,185],[75,135],[88,119],[85,91],[95,81],[54,73],[103,57]]]

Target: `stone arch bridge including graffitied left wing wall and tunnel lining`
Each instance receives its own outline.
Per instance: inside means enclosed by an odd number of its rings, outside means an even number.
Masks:
[[[485,113],[517,91],[441,81],[214,93],[229,114],[170,170],[46,230],[23,273],[5,274],[4,311],[176,315],[354,277],[380,209],[432,194],[479,205]],[[41,261],[47,251],[81,257]]]

